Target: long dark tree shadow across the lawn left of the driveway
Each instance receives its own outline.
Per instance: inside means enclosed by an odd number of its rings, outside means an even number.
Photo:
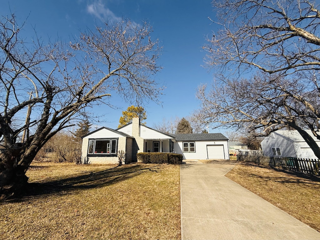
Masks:
[[[38,198],[54,193],[71,194],[76,190],[102,188],[116,182],[138,176],[144,172],[160,172],[161,166],[147,166],[141,164],[129,164],[121,167],[114,167],[100,172],[81,171],[78,176],[49,180],[46,182],[32,182],[19,199],[12,199],[12,202],[25,201],[30,198]],[[80,175],[81,174],[81,175]]]

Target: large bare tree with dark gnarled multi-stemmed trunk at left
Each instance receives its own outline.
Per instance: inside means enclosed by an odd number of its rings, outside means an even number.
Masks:
[[[162,87],[153,75],[161,47],[151,32],[146,22],[122,20],[87,29],[70,44],[29,43],[14,15],[1,19],[0,199],[25,186],[29,165],[53,135],[88,107],[111,105],[110,93],[137,104],[158,100]]]

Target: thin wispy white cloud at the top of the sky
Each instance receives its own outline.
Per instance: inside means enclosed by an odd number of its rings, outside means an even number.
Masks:
[[[87,5],[87,12],[104,22],[115,22],[121,19],[107,8],[101,0],[94,0],[92,4]]]

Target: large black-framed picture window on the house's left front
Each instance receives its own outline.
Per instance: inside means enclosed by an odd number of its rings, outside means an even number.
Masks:
[[[89,140],[88,154],[116,154],[117,139]]]

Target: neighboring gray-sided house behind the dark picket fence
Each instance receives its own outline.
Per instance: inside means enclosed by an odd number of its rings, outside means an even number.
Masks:
[[[320,146],[318,140],[310,130],[306,130]],[[264,156],[283,156],[317,159],[306,141],[297,130],[278,130],[272,132],[261,141]]]

